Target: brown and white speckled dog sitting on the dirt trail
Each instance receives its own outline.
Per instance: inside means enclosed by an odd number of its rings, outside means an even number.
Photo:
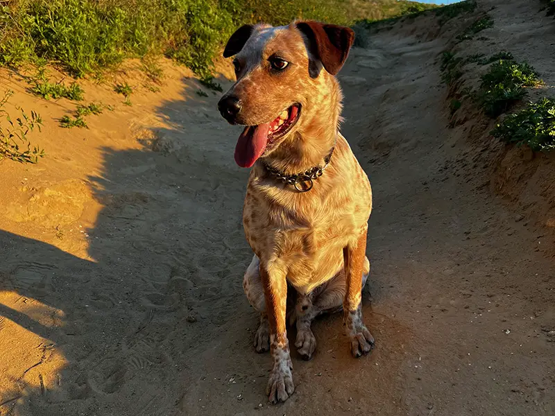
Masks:
[[[266,392],[273,403],[295,388],[286,314],[305,359],[316,348],[312,320],[341,308],[352,354],[374,344],[361,313],[372,191],[339,133],[343,97],[335,78],[353,40],[350,28],[316,21],[245,25],[223,52],[235,57],[237,82],[218,107],[230,123],[246,125],[235,161],[253,167],[243,223],[255,255],[244,289],[261,313],[256,350],[271,350]],[[288,286],[296,295],[291,311]]]

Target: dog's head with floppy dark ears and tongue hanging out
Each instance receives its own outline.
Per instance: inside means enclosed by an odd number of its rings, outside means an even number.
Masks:
[[[317,21],[237,29],[223,51],[225,58],[234,56],[237,82],[218,108],[230,123],[246,125],[235,148],[239,166],[253,166],[306,127],[318,103],[332,100],[326,85],[354,39],[350,28]]]

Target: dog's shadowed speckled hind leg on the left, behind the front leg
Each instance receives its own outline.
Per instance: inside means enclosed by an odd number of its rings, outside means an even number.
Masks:
[[[255,333],[254,345],[256,352],[262,353],[270,351],[270,327],[266,313],[266,300],[264,300],[264,288],[260,279],[259,265],[260,260],[255,254],[245,272],[243,289],[248,302],[260,313],[260,324]]]

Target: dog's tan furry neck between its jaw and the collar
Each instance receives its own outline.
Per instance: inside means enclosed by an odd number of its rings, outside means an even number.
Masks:
[[[336,86],[336,83],[335,83]],[[312,108],[302,126],[285,140],[264,163],[286,175],[295,175],[316,166],[323,166],[324,159],[330,155],[339,133],[339,114],[341,112],[341,90],[334,88],[332,103]]]

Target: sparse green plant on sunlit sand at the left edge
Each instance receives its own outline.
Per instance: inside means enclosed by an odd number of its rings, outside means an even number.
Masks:
[[[0,160],[12,159],[22,163],[37,163],[39,157],[44,157],[44,150],[37,146],[31,150],[31,142],[28,141],[27,135],[35,128],[40,132],[42,119],[40,114],[34,111],[31,111],[31,116],[28,116],[21,107],[16,107],[21,116],[17,117],[15,122],[12,121],[10,114],[4,108],[12,94],[12,91],[7,91],[0,99]],[[3,127],[2,121],[6,121],[8,125]],[[19,148],[19,144],[26,145],[26,148]]]

